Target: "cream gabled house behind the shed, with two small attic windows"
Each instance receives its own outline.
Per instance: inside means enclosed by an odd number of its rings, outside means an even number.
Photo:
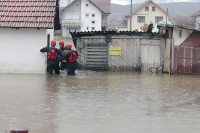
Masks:
[[[167,18],[166,18],[167,17]],[[142,26],[145,24],[152,23],[154,26],[162,21],[162,20],[168,20],[169,14],[162,9],[158,4],[153,2],[152,0],[147,0],[143,4],[141,4],[139,7],[137,7],[135,10],[132,11],[132,13],[126,18],[127,26],[129,31],[133,30],[139,30]],[[130,26],[130,18],[131,18],[131,26]]]

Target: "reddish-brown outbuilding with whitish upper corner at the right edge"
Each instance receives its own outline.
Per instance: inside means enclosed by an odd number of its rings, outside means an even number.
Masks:
[[[173,27],[174,74],[200,74],[200,32],[185,27]]]

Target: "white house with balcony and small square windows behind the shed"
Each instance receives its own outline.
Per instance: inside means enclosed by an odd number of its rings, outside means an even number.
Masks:
[[[110,0],[74,0],[60,11],[62,36],[70,32],[99,31],[108,25]]]

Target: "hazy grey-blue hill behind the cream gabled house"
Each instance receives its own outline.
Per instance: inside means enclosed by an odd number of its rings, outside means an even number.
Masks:
[[[133,4],[133,10],[140,4]],[[158,3],[164,10],[169,10],[171,18],[176,16],[191,16],[196,11],[200,10],[200,2],[173,2],[173,3]],[[123,20],[130,13],[130,5],[111,4],[111,19]]]

